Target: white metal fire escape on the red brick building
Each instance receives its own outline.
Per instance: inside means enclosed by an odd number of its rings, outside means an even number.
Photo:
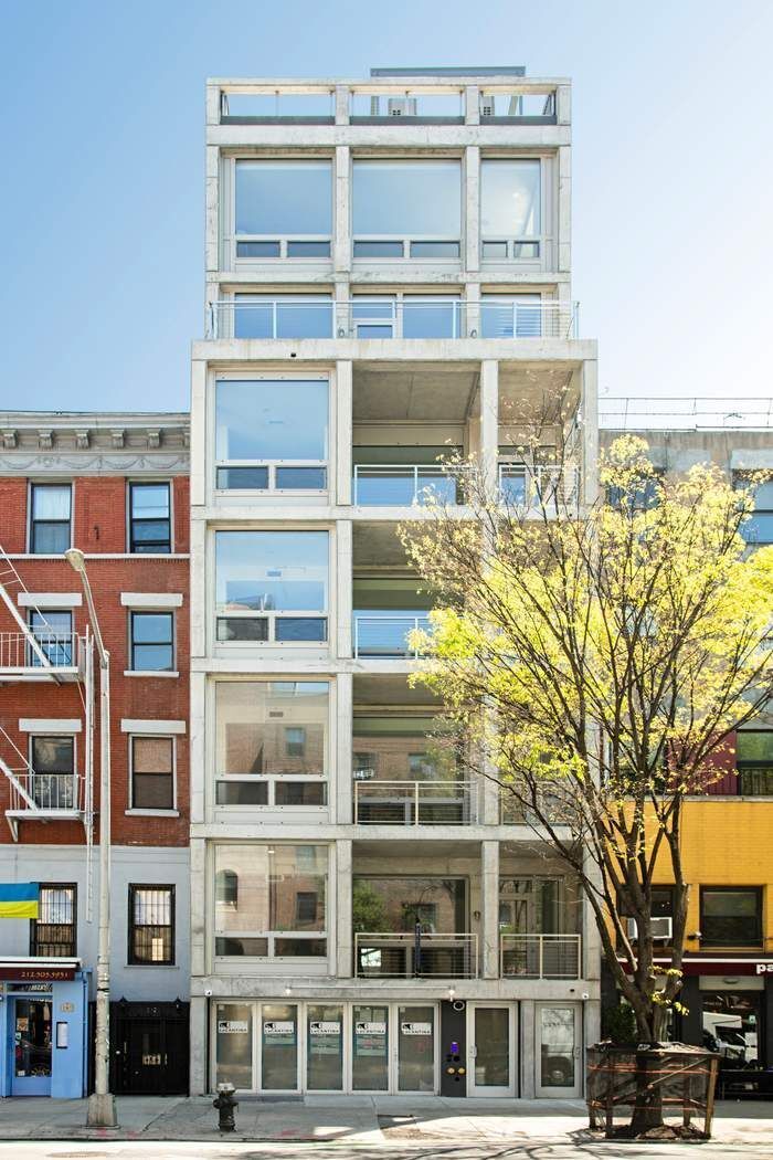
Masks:
[[[88,629],[85,636],[79,637],[74,632],[63,633],[51,628],[45,611],[25,601],[28,609],[35,614],[35,629],[30,628],[14,600],[20,593],[29,595],[14,563],[0,546],[0,601],[15,625],[14,631],[0,631],[0,684],[76,684],[83,709],[85,737],[82,747],[79,747],[80,770],[38,771],[0,719],[0,774],[10,789],[6,820],[14,841],[19,841],[20,821],[80,821],[86,831],[90,883],[94,832],[93,640]]]

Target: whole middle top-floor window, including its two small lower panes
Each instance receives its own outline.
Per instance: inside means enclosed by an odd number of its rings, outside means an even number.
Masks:
[[[355,258],[459,258],[457,160],[355,161],[352,205]]]

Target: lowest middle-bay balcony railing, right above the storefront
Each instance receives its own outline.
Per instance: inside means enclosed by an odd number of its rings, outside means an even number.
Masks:
[[[477,935],[357,933],[355,974],[358,979],[476,979]]]

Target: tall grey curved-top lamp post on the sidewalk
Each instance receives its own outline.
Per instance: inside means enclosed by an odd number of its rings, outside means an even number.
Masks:
[[[88,1097],[87,1124],[115,1128],[116,1102],[110,1092],[110,653],[96,618],[86,558],[78,548],[65,559],[79,574],[100,657],[100,936],[96,952],[96,1044],[94,1093]]]

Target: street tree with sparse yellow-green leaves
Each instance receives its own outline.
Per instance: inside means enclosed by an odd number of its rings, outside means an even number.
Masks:
[[[413,680],[443,698],[461,760],[574,871],[639,1041],[656,1043],[681,986],[685,797],[773,696],[773,548],[741,535],[756,477],[666,479],[647,452],[615,441],[583,513],[568,469],[532,465],[503,494],[464,465],[466,508],[433,505],[402,537],[437,594]],[[673,883],[664,971],[656,868]]]

